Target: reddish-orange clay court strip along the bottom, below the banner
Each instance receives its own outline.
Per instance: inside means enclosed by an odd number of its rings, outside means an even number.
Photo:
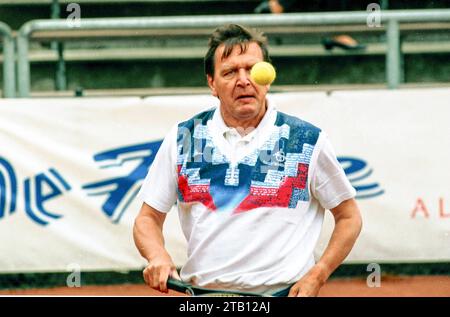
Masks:
[[[55,287],[1,290],[0,295],[38,296],[184,296],[169,291],[163,294],[144,284]],[[386,276],[380,287],[369,288],[362,278],[330,280],[320,291],[322,297],[450,297],[450,276]]]

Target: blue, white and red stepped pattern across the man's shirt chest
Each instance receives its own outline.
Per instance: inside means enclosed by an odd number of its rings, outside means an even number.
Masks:
[[[277,111],[262,146],[231,162],[207,128],[216,109],[178,125],[178,199],[211,211],[233,213],[258,207],[296,208],[308,201],[308,171],[320,129]]]

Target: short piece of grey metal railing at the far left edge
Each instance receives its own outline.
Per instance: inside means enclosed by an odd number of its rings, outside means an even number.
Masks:
[[[0,34],[3,40],[3,97],[14,98],[16,94],[14,39],[11,28],[3,22],[0,22]]]

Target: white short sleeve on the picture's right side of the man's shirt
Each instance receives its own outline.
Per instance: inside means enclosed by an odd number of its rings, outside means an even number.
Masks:
[[[317,156],[311,191],[325,209],[332,209],[341,202],[355,197],[356,191],[339,164],[328,137],[325,134],[321,137],[324,139]]]

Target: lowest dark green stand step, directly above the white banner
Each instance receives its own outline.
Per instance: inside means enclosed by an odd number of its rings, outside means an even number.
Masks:
[[[405,55],[405,82],[449,83],[448,56]],[[386,80],[384,55],[274,57],[273,61],[278,72],[275,85],[382,84]],[[54,61],[32,63],[32,91],[53,90],[56,69]],[[72,90],[206,86],[201,58],[68,62],[66,74]]]

